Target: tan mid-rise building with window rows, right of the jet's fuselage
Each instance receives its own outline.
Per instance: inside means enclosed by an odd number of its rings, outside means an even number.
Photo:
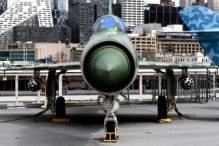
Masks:
[[[136,26],[132,34],[129,34],[133,45],[139,56],[146,57],[146,60],[167,61],[165,54],[174,56],[194,56],[196,52],[204,54],[203,48],[191,34],[159,33],[160,31],[182,31],[182,25],[168,25],[161,27],[161,24],[151,23]],[[164,58],[155,58],[155,53]],[[178,57],[179,58],[179,57]]]

